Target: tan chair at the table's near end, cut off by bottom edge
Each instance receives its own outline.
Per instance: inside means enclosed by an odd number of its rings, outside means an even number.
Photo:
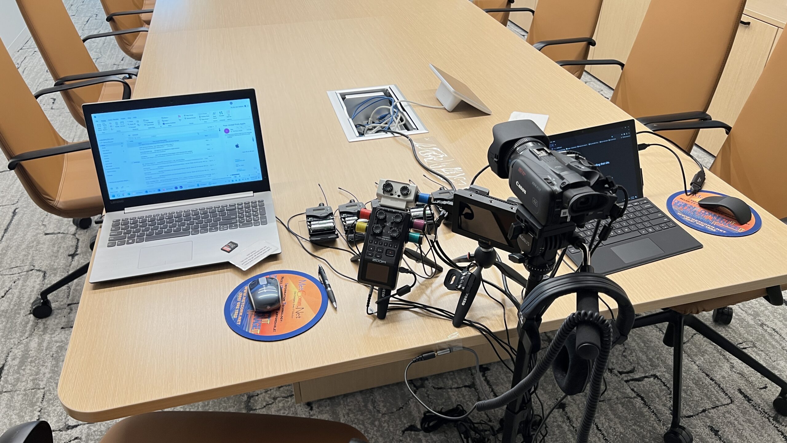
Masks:
[[[305,417],[240,412],[161,411],[135,415],[109,428],[101,443],[364,443],[353,426]],[[52,443],[49,423],[23,423],[0,443]]]

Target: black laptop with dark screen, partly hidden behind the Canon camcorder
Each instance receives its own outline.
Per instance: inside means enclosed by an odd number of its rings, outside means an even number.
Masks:
[[[549,136],[549,147],[578,151],[629,193],[626,213],[612,224],[610,237],[593,253],[591,264],[597,273],[611,274],[702,248],[666,211],[642,195],[634,120]],[[622,192],[618,204],[623,206]],[[590,241],[595,227],[596,221],[592,221],[578,232]],[[582,262],[578,249],[568,248],[567,256],[577,265]]]

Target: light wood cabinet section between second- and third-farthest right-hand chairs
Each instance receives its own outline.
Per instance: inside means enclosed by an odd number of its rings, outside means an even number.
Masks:
[[[648,6],[650,0],[604,0],[596,27],[596,47],[590,48],[589,58],[615,58],[625,63]],[[618,84],[619,66],[588,66],[586,69],[611,87]]]

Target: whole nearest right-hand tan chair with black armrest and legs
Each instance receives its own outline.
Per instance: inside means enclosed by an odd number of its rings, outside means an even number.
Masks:
[[[780,41],[774,48],[762,75],[759,76],[752,94],[748,96],[732,128],[719,121],[682,121],[649,125],[652,129],[724,128],[729,136],[719,156],[713,162],[711,171],[778,218],[787,217],[787,194],[785,194],[787,176],[783,170],[787,159],[785,70],[787,70],[787,40]],[[732,305],[754,300],[760,296],[776,306],[784,304],[781,288],[772,286],[767,289],[682,304],[635,320],[635,328],[667,322],[664,344],[674,348],[673,417],[671,430],[667,432],[671,437],[687,432],[680,425],[684,326],[694,329],[763,377],[768,378],[770,382],[778,385],[781,393],[774,400],[774,409],[781,415],[787,415],[787,381],[694,316],[700,312],[713,311],[714,322],[729,324],[733,317]],[[666,439],[665,436],[665,441]]]

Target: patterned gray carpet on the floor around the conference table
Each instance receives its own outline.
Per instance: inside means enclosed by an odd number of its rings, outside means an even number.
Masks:
[[[98,0],[65,2],[81,35],[109,30]],[[117,49],[113,39],[93,40],[88,47],[101,69],[134,64]],[[13,58],[31,90],[50,85],[32,40]],[[597,90],[604,88],[592,77],[588,83]],[[46,96],[40,102],[63,136],[68,140],[85,138],[83,128],[72,120],[60,96]],[[0,431],[28,420],[46,419],[55,430],[57,443],[97,442],[113,423],[79,423],[65,414],[57,400],[57,379],[83,279],[54,294],[54,315],[50,318],[35,320],[28,315],[36,292],[89,259],[87,244],[95,228],[77,230],[70,221],[35,207],[17,177],[4,166],[0,169],[0,190]],[[787,374],[785,315],[787,308],[752,300],[735,307],[730,326],[715,327],[778,374]],[[710,322],[709,315],[700,317]],[[662,334],[662,326],[639,329],[625,346],[613,352],[606,376],[608,391],[600,404],[591,441],[662,441],[670,422],[672,378],[671,349],[661,344]],[[778,394],[773,384],[696,334],[687,334],[685,352],[683,423],[692,430],[695,441],[787,442],[787,419],[776,415],[770,405]],[[500,363],[482,370],[487,390],[501,393],[506,389],[509,375]],[[419,396],[443,408],[469,406],[479,396],[470,370],[414,383]],[[541,384],[540,396],[545,408],[560,398],[551,374]],[[546,441],[574,441],[583,404],[583,395],[559,404],[549,419]],[[282,386],[190,404],[183,409],[334,419],[357,426],[375,443],[459,441],[453,428],[432,434],[419,430],[423,410],[401,383],[309,404],[295,404],[290,386]],[[490,423],[497,423],[500,417],[501,411],[474,415]]]

